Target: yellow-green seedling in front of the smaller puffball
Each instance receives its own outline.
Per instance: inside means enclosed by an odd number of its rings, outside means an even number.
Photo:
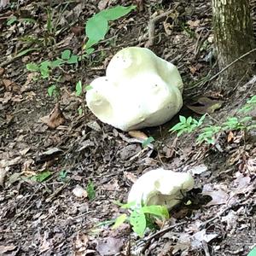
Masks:
[[[115,219],[113,229],[117,229],[121,224],[128,222],[131,224],[132,230],[138,236],[143,237],[147,228],[154,229],[154,221],[156,218],[166,219],[169,218],[169,212],[165,206],[143,206],[132,207],[135,203],[119,204],[123,209],[131,210],[130,214],[121,214]]]

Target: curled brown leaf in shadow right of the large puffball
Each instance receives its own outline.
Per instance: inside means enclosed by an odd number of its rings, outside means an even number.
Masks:
[[[224,101],[211,100],[207,97],[201,97],[192,105],[187,105],[189,109],[195,113],[205,114],[213,113],[218,108],[221,108]]]

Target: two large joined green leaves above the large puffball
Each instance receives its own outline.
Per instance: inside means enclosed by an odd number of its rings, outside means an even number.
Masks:
[[[110,9],[104,9],[88,19],[85,25],[85,34],[88,38],[84,45],[86,54],[92,53],[94,51],[92,46],[105,38],[109,29],[109,21],[118,20],[120,17],[129,14],[133,9],[136,9],[136,6],[124,7],[118,5]]]

